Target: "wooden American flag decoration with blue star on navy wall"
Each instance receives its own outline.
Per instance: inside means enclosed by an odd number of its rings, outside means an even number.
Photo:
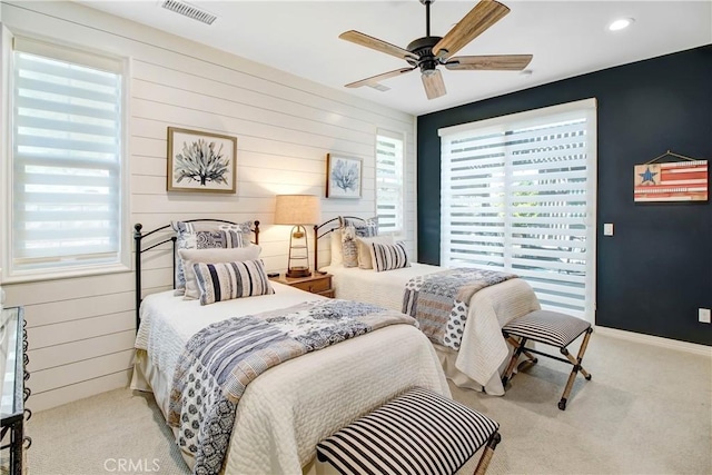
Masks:
[[[674,155],[668,152],[665,155]],[[664,156],[664,155],[663,155]],[[706,201],[708,160],[636,165],[635,201]]]

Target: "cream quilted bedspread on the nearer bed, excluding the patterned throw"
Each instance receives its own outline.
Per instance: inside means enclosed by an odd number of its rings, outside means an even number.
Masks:
[[[199,329],[225,318],[323,298],[273,286],[274,295],[207,306],[174,297],[172,291],[146,297],[131,387],[152,390],[165,415],[174,368]],[[435,350],[409,325],[380,328],[285,362],[250,383],[240,399],[225,473],[308,469],[319,441],[414,386],[449,395]],[[190,454],[184,458],[191,466]]]

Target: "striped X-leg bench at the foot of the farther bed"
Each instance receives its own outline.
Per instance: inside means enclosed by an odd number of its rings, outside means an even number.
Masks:
[[[532,356],[532,353],[573,365],[568,380],[566,382],[566,387],[564,388],[564,394],[558,402],[558,408],[562,410],[566,409],[566,402],[568,400],[576,374],[581,372],[587,380],[591,379],[591,375],[581,366],[583,355],[586,353],[586,347],[589,346],[589,338],[593,333],[593,328],[589,321],[558,311],[535,310],[510,321],[502,328],[502,333],[507,342],[515,348],[512,354],[512,359],[510,359],[510,365],[502,377],[503,386],[506,387],[507,382],[512,379],[514,368],[522,354],[524,354],[531,363],[536,363],[536,358]],[[566,347],[584,333],[586,335],[578,348],[578,355],[574,358]],[[514,337],[518,337],[518,339]],[[525,346],[528,340],[555,346],[566,359],[534,348],[527,348]]]

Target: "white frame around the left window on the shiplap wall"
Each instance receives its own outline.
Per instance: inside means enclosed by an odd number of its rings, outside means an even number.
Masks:
[[[26,43],[37,44],[41,47],[42,44],[48,46],[48,50],[63,50],[65,53],[60,55],[41,55],[48,58],[55,58],[58,60],[76,62],[78,65],[87,66],[81,61],[72,61],[72,55],[77,55],[78,57],[90,57],[97,58],[98,63],[101,61],[110,60],[120,65],[117,71],[117,75],[121,76],[121,112],[120,112],[120,133],[118,135],[120,140],[120,151],[119,151],[119,199],[116,205],[119,206],[118,211],[118,234],[117,234],[117,244],[118,250],[116,253],[116,259],[112,259],[110,263],[106,261],[95,261],[95,263],[77,263],[75,265],[61,266],[61,267],[52,267],[52,266],[41,266],[32,269],[18,269],[13,267],[14,259],[14,250],[13,250],[13,232],[11,229],[11,222],[13,221],[14,212],[13,212],[13,189],[16,186],[13,179],[13,166],[16,162],[14,159],[14,127],[16,127],[16,113],[14,113],[14,41],[19,38],[20,41],[24,41]],[[60,278],[72,278],[72,277],[83,277],[83,276],[93,276],[93,275],[103,275],[103,274],[116,274],[116,273],[128,273],[131,271],[131,236],[129,232],[130,229],[130,133],[129,133],[129,123],[130,123],[130,71],[131,71],[131,61],[130,58],[112,56],[102,51],[91,50],[85,47],[79,47],[71,43],[66,43],[61,41],[56,41],[53,39],[43,39],[36,36],[14,36],[12,31],[7,29],[4,26],[2,27],[2,41],[0,42],[0,48],[2,49],[1,53],[3,56],[3,70],[2,77],[0,78],[0,82],[2,83],[1,98],[0,98],[0,107],[2,107],[2,118],[7,126],[2,127],[2,137],[3,142],[6,144],[2,155],[3,155],[3,164],[2,171],[4,176],[2,177],[2,185],[4,188],[4,192],[0,196],[2,200],[2,209],[7,219],[2,220],[0,224],[0,236],[2,236],[3,245],[1,246],[2,259],[0,260],[1,274],[0,278],[4,284],[13,284],[13,283],[26,283],[26,281],[41,281],[41,280],[52,280]],[[7,60],[6,60],[7,59]],[[101,69],[101,68],[98,68]]]

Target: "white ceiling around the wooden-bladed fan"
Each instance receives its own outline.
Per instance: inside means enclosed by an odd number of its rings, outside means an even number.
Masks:
[[[418,71],[383,81],[390,88],[385,92],[343,87],[407,63],[338,36],[353,29],[406,48],[425,36],[425,7],[418,0],[190,1],[218,16],[212,26],[162,9],[160,0],[81,1],[413,115],[712,43],[711,0],[503,2],[510,14],[456,56],[531,53],[532,75],[441,67],[447,95],[428,100]],[[475,3],[435,1],[431,34],[444,36]],[[607,24],[621,17],[635,22],[609,31]]]

